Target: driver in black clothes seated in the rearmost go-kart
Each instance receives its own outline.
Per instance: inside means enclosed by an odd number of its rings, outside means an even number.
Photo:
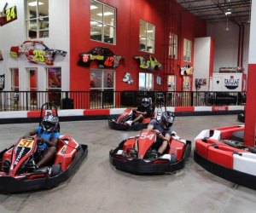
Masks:
[[[135,113],[132,115],[133,120],[128,122],[130,125],[135,124],[136,122],[142,122],[144,118],[150,118],[153,113],[150,98],[143,98],[142,106],[137,107],[134,112]]]

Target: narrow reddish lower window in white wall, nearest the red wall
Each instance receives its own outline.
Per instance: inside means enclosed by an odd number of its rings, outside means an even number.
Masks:
[[[46,72],[48,100],[61,106],[61,68],[47,68]]]

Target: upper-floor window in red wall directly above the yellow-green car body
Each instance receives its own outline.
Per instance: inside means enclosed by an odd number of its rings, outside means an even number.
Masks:
[[[140,20],[140,47],[141,51],[154,53],[154,25]]]

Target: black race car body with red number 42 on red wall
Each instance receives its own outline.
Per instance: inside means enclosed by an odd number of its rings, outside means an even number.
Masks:
[[[97,47],[88,52],[80,54],[79,66],[90,66],[91,61],[96,60],[100,68],[117,67],[119,60],[123,59],[120,55],[115,55],[110,49]]]

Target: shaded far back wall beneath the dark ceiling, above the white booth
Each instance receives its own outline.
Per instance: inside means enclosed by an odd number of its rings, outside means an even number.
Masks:
[[[219,67],[236,67],[238,57],[239,26],[229,21],[227,23],[207,24],[207,36],[214,39],[213,72],[218,72]],[[247,73],[249,25],[244,27],[243,68]]]

